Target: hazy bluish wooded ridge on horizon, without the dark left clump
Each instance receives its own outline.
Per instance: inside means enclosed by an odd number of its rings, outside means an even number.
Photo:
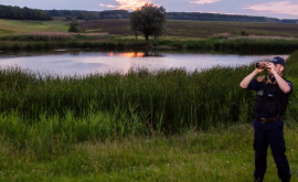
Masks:
[[[82,11],[82,10],[45,10],[52,17],[72,17],[77,20],[98,19],[129,19],[130,12],[127,10],[107,11]],[[237,21],[237,22],[268,22],[268,23],[298,23],[294,19],[276,19],[266,17],[252,17],[241,14],[216,14],[201,12],[168,12],[169,20],[200,20],[200,21]]]

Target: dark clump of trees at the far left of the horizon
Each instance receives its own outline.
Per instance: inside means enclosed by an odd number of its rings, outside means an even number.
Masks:
[[[0,19],[14,20],[53,20],[53,18],[43,10],[20,8],[0,4]]]

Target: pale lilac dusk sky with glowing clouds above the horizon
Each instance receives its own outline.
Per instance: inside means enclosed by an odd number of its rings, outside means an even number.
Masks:
[[[42,10],[129,10],[146,2],[162,6],[167,12],[212,12],[278,19],[298,19],[298,0],[0,0],[0,4]]]

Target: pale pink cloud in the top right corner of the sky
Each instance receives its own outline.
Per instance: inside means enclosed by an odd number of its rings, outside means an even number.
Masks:
[[[245,7],[254,11],[264,13],[278,13],[278,14],[294,14],[298,15],[298,2],[279,1],[279,2],[266,2],[254,6]]]

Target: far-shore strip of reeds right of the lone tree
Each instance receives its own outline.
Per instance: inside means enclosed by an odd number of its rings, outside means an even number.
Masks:
[[[298,50],[297,39],[226,39],[211,38],[206,40],[156,41],[157,47],[168,45],[173,50],[198,50],[230,53],[292,53]]]

